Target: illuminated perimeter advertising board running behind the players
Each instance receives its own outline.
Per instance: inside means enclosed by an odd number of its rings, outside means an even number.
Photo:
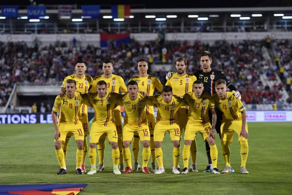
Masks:
[[[125,113],[121,112],[122,118]],[[154,113],[156,117],[156,112]],[[92,122],[94,113],[88,113]],[[246,111],[247,122],[292,122],[292,111]],[[53,123],[49,114],[0,114],[0,124],[47,124]]]

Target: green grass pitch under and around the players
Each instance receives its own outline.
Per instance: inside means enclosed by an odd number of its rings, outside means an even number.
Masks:
[[[207,165],[205,144],[197,136],[199,172],[175,175],[172,144],[166,134],[162,149],[166,172],[161,175],[141,172],[127,175],[112,173],[111,147],[106,146],[105,170],[95,175],[76,175],[76,144],[72,137],[67,154],[68,174],[56,175],[59,165],[54,151],[52,124],[0,125],[0,184],[87,183],[80,192],[88,194],[292,194],[291,122],[248,123],[248,175],[239,173],[240,145],[237,135],[230,144],[234,173],[203,173]],[[224,168],[220,139],[218,168]],[[131,146],[130,146],[131,147]],[[183,140],[181,141],[181,150]],[[140,143],[140,165],[142,144]],[[133,156],[132,156],[133,160]],[[98,163],[98,160],[97,160]],[[183,167],[182,154],[180,166]],[[86,168],[90,169],[89,158]]]

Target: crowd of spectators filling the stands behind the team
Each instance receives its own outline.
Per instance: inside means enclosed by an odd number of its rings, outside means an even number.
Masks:
[[[127,83],[131,77],[138,75],[138,60],[145,58],[149,61],[148,73],[158,77],[161,83],[165,84],[167,72],[150,71],[152,66],[173,64],[177,57],[183,56],[188,60],[187,72],[193,73],[201,68],[197,56],[204,50],[211,51],[211,66],[226,74],[241,92],[245,103],[291,103],[291,96],[290,99],[281,100],[282,92],[287,87],[286,83],[285,86],[279,84],[269,87],[261,82],[263,74],[269,80],[275,80],[276,70],[280,69],[276,62],[270,63],[263,58],[261,48],[264,44],[264,41],[217,41],[212,45],[187,41],[149,41],[140,44],[131,40],[128,44],[109,44],[106,49],[101,49],[93,45],[70,47],[65,42],[55,42],[43,47],[38,44],[29,47],[25,42],[0,42],[0,106],[5,105],[15,82],[55,84],[67,75],[74,74],[74,62],[77,59],[87,62],[86,74],[92,77],[102,74],[104,59],[112,59],[113,73],[123,77]],[[291,75],[291,44],[288,46],[289,51],[286,47],[287,44],[283,44],[281,48],[284,49],[279,50],[281,64],[285,69],[284,76]]]

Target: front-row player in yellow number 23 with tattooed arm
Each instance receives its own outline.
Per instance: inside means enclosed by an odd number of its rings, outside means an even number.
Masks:
[[[182,174],[187,174],[189,172],[188,164],[190,158],[190,147],[198,132],[202,135],[204,141],[207,141],[210,146],[210,154],[213,164],[212,172],[220,174],[217,169],[218,150],[215,142],[215,124],[217,120],[215,104],[212,96],[203,91],[203,82],[197,80],[193,84],[193,92],[186,93],[183,96],[183,99],[187,101],[189,105],[191,117],[189,117],[185,130],[185,145],[183,147],[184,169],[181,172]],[[209,109],[211,109],[212,112],[212,126],[209,120]]]

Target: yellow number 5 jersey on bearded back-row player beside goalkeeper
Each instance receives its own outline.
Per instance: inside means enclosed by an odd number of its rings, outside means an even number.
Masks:
[[[173,95],[183,98],[183,95],[193,91],[193,83],[197,80],[195,75],[185,73],[183,76],[178,76],[174,73],[165,85],[172,87]],[[189,108],[187,106],[179,109],[178,114],[188,114]]]

